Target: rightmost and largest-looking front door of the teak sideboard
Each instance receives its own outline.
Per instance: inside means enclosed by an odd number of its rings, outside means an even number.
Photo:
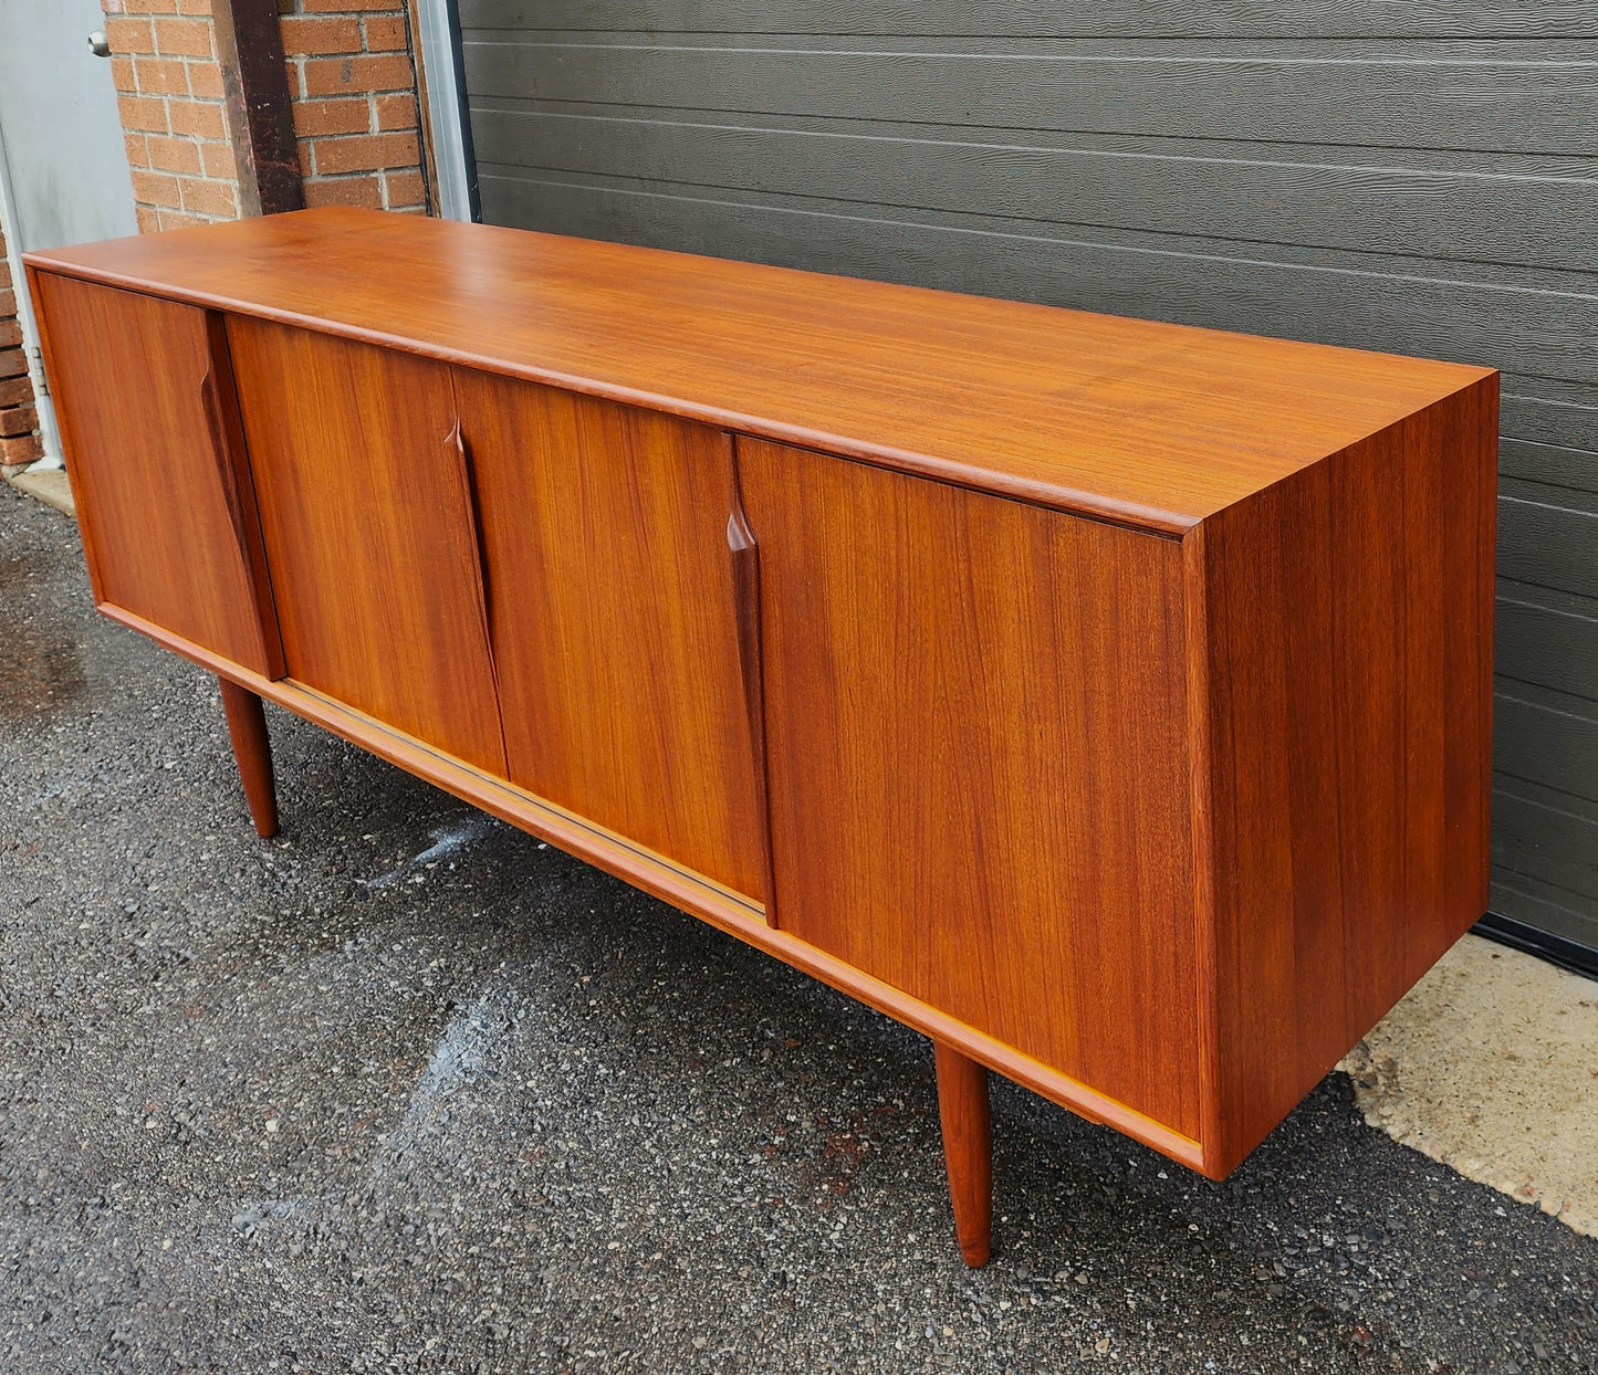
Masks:
[[[1198,1135],[1183,551],[738,441],[778,923]]]

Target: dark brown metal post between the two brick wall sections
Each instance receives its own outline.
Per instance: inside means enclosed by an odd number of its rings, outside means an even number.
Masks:
[[[238,160],[240,211],[272,216],[304,209],[276,0],[213,0],[211,16]]]

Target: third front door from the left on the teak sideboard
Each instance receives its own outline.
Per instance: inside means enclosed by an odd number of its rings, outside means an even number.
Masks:
[[[455,372],[508,778],[761,902],[730,436]]]

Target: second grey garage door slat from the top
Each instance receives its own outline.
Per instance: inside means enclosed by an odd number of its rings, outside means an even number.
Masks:
[[[1098,40],[1091,53],[1080,51],[1085,43],[1032,40],[1026,53],[989,53],[967,38],[941,40],[959,51],[909,40],[860,50],[813,35],[805,46],[639,38],[468,38],[467,89],[658,110],[1598,153],[1598,64],[1585,45],[1555,40],[1515,51],[1389,40],[1361,57],[1347,56],[1347,42],[1317,40],[1288,45],[1298,51],[1283,61],[1283,45],[1181,38],[1157,43],[1155,53],[1136,40]]]

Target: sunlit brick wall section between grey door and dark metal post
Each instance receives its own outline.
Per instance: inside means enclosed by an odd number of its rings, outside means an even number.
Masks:
[[[211,0],[102,0],[139,228],[241,212]]]

